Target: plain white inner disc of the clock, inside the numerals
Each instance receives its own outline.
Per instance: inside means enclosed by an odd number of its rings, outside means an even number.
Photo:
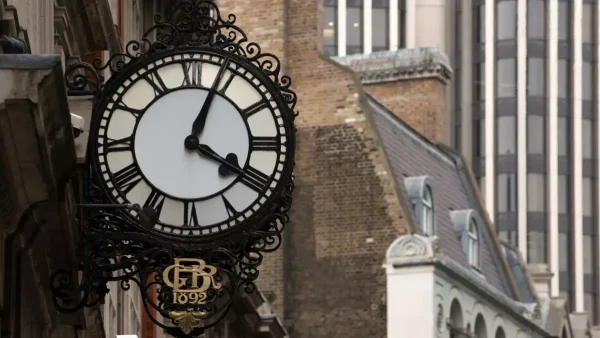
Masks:
[[[136,160],[147,180],[166,195],[205,199],[227,189],[237,178],[219,175],[219,163],[191,151],[199,144],[223,157],[235,154],[242,167],[248,159],[246,122],[220,95],[212,101],[202,132],[197,138],[190,135],[207,95],[207,90],[196,88],[168,93],[140,118],[134,141]]]

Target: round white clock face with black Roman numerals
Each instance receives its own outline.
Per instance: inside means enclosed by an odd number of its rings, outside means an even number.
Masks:
[[[212,52],[171,54],[140,67],[105,89],[110,96],[94,129],[111,198],[152,206],[154,230],[181,236],[221,233],[268,209],[287,183],[293,130],[273,85]],[[192,135],[205,103],[203,128]],[[197,147],[186,147],[190,135]]]

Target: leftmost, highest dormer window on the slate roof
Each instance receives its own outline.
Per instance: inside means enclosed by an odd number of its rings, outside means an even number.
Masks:
[[[435,232],[435,204],[433,190],[427,176],[407,177],[404,179],[406,192],[413,212],[419,222],[419,230],[427,236]]]

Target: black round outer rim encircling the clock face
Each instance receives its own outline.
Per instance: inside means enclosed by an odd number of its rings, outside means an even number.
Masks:
[[[164,51],[159,51],[159,52],[156,52],[153,54],[146,55],[145,57],[133,60],[132,62],[128,63],[125,67],[123,67],[123,69],[119,73],[115,74],[113,77],[111,77],[106,82],[106,84],[104,85],[104,88],[103,88],[104,97],[94,105],[94,115],[93,115],[92,123],[90,126],[90,135],[89,135],[91,153],[88,154],[88,156],[90,157],[89,160],[90,160],[90,164],[92,167],[92,176],[93,176],[93,178],[95,178],[98,181],[99,188],[101,189],[104,196],[106,196],[107,199],[111,203],[120,203],[117,200],[117,198],[115,196],[113,196],[113,194],[111,193],[111,191],[110,191],[111,189],[109,189],[108,186],[106,185],[106,180],[104,180],[104,178],[102,177],[103,173],[100,169],[100,163],[98,161],[99,156],[101,156],[101,155],[98,154],[98,149],[96,147],[96,145],[97,145],[96,140],[98,139],[98,131],[99,131],[100,122],[102,119],[102,113],[104,112],[104,110],[106,110],[107,105],[109,103],[111,103],[113,95],[117,92],[117,90],[119,88],[122,87],[123,82],[130,79],[130,77],[133,74],[135,74],[136,72],[138,72],[139,70],[144,69],[149,64],[151,64],[155,61],[158,61],[160,59],[163,59],[163,58],[166,58],[169,56],[175,56],[175,55],[180,55],[180,54],[195,54],[195,53],[213,55],[218,58],[229,58],[231,61],[233,61],[236,64],[243,67],[247,72],[250,72],[252,74],[252,76],[254,76],[256,79],[258,79],[260,81],[260,83],[265,86],[265,88],[267,89],[267,92],[271,94],[274,102],[276,103],[276,107],[281,112],[283,126],[279,126],[279,127],[283,127],[285,129],[285,137],[286,137],[285,145],[287,148],[287,154],[286,154],[285,162],[283,163],[283,170],[281,171],[280,179],[277,182],[277,185],[271,189],[272,190],[271,195],[262,204],[262,206],[259,208],[259,210],[257,210],[254,214],[252,214],[245,221],[240,222],[239,224],[236,224],[233,227],[228,227],[225,230],[219,230],[216,233],[200,234],[200,235],[193,235],[193,234],[183,235],[183,234],[166,233],[166,232],[155,230],[155,229],[152,229],[152,230],[145,229],[139,225],[139,222],[132,215],[132,213],[128,212],[127,210],[120,210],[119,213],[124,218],[129,220],[131,222],[131,224],[134,225],[136,230],[141,230],[143,232],[149,233],[154,236],[158,236],[158,237],[168,240],[168,241],[185,242],[185,243],[194,242],[194,243],[198,243],[198,244],[207,244],[207,243],[219,240],[219,239],[224,239],[224,238],[230,239],[230,238],[234,237],[234,235],[236,233],[253,232],[253,231],[257,231],[261,228],[268,226],[269,219],[271,218],[272,214],[274,212],[277,212],[278,211],[277,209],[281,207],[281,206],[279,206],[279,204],[282,203],[280,200],[285,193],[286,186],[292,180],[293,159],[294,159],[294,150],[295,150],[294,113],[289,108],[285,98],[283,97],[281,90],[279,88],[277,88],[277,86],[273,83],[272,79],[262,69],[259,69],[255,64],[253,64],[252,62],[248,61],[247,59],[245,59],[243,57],[229,53],[225,50],[220,50],[220,49],[215,49],[215,48],[210,48],[210,47],[187,47],[187,48],[179,48],[176,50],[175,49],[167,49]],[[262,95],[263,95],[263,93],[261,93],[261,96]],[[148,106],[150,106],[150,105],[151,104],[149,104]],[[237,106],[236,106],[236,108],[237,108]],[[279,135],[279,131],[278,131],[278,135]],[[249,159],[248,159],[248,161],[249,161]],[[238,179],[239,178],[236,178],[236,181]],[[269,183],[271,183],[271,182],[272,182],[272,180]],[[263,194],[264,194],[264,192],[263,192]],[[260,199],[260,196],[262,196],[262,194],[259,195],[259,199]],[[250,207],[252,207],[252,205],[250,205]],[[194,229],[194,228],[189,228],[189,229]],[[186,230],[188,230],[188,229],[186,228]]]

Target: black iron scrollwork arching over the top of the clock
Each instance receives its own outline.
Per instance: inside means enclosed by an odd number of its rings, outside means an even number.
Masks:
[[[283,94],[289,109],[294,112],[297,103],[296,93],[290,89],[292,80],[281,75],[281,62],[271,53],[263,52],[261,46],[251,42],[246,33],[236,25],[236,16],[223,16],[214,0],[178,0],[171,7],[171,13],[154,16],[154,25],[140,41],[130,41],[121,53],[114,53],[106,64],[95,60],[93,65],[78,63],[69,67],[70,71],[92,70],[96,75],[103,70],[118,74],[128,63],[143,59],[146,55],[173,49],[208,48],[223,50],[253,64],[276,85]],[[88,76],[89,79],[89,76]],[[95,86],[69,87],[70,95],[99,94],[102,81]],[[71,81],[73,82],[73,81]],[[87,82],[85,82],[87,84]],[[91,85],[91,83],[90,83]],[[294,113],[294,115],[297,115]]]

